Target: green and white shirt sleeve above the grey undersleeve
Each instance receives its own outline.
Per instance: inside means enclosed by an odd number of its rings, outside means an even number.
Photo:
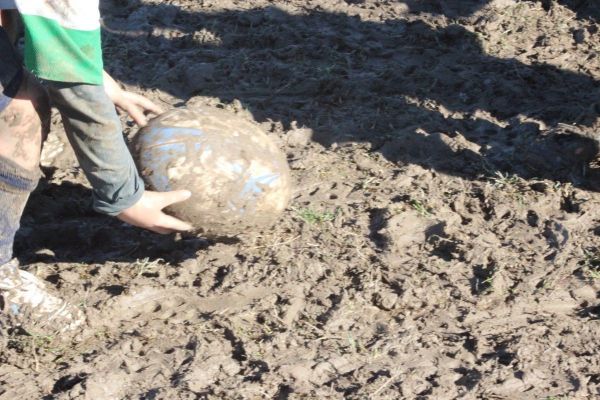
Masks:
[[[99,0],[0,0],[25,25],[25,66],[59,82],[102,84]]]

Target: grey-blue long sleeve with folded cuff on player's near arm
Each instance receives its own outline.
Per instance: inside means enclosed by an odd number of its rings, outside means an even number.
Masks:
[[[45,82],[50,101],[61,113],[75,155],[93,188],[94,209],[117,215],[144,192],[121,130],[115,106],[104,87]]]

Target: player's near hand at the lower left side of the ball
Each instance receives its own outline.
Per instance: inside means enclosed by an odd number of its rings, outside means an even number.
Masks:
[[[187,190],[173,192],[145,191],[137,203],[117,215],[117,218],[128,224],[157,233],[189,231],[193,228],[190,224],[163,213],[162,209],[171,204],[185,201],[191,195]]]

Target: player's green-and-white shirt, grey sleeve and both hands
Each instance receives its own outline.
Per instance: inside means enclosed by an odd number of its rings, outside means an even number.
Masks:
[[[44,80],[63,117],[69,142],[92,185],[94,209],[156,232],[189,229],[161,211],[187,198],[188,192],[145,192],[125,144],[115,105],[142,125],[144,111],[159,110],[104,74],[98,0],[14,3],[25,26],[25,63]]]

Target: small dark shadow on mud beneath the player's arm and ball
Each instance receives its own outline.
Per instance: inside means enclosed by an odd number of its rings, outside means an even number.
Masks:
[[[52,169],[46,170],[46,175]],[[202,238],[158,235],[131,227],[91,208],[90,190],[44,181],[28,202],[15,254],[22,264],[34,262],[133,262],[148,258],[180,263],[194,259],[210,243]]]

